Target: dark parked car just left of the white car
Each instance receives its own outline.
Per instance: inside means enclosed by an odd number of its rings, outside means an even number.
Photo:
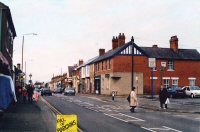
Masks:
[[[168,87],[167,92],[171,98],[186,97],[185,90],[178,86]]]

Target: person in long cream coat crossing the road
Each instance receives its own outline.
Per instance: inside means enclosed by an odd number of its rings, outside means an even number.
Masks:
[[[130,111],[132,113],[135,112],[135,107],[138,105],[138,101],[137,101],[137,95],[135,93],[135,87],[132,87],[131,93],[130,93]]]

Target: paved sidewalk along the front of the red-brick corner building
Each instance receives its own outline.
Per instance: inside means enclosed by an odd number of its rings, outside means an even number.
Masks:
[[[94,98],[101,99],[102,101],[112,102],[111,96],[93,94],[87,94],[85,96],[93,96]],[[125,96],[116,96],[114,99],[114,103],[124,108],[127,108],[129,103],[126,98],[127,97]],[[151,96],[138,96],[138,107],[154,111],[200,114],[200,98],[170,98],[170,104],[168,104],[168,109],[165,110],[160,109],[160,102],[158,96],[155,96],[153,99],[151,98]]]

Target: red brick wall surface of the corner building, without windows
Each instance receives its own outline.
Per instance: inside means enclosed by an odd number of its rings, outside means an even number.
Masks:
[[[158,94],[160,89],[160,65],[161,61],[156,60],[156,71],[154,71],[154,94]],[[132,71],[132,57],[131,56],[116,56],[113,58],[113,72],[131,72]],[[178,77],[179,86],[189,85],[189,77],[195,77],[195,84],[200,86],[200,61],[189,60],[175,60],[174,71],[167,71],[167,67],[162,73],[162,77]],[[142,72],[144,77],[144,94],[151,94],[151,68],[148,67],[148,58],[145,56],[134,57],[134,72]],[[162,84],[163,84],[162,80]],[[170,86],[172,85],[172,79],[170,79]]]

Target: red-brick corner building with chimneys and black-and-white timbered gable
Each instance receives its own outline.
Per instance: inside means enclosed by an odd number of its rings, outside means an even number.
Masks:
[[[99,57],[93,61],[94,91],[107,95],[112,91],[118,95],[128,94],[132,86],[132,66],[137,94],[151,94],[152,79],[154,94],[158,93],[161,84],[165,87],[200,85],[199,52],[195,49],[179,49],[177,36],[171,37],[169,45],[170,48],[157,45],[139,47],[134,39],[125,43],[124,34],[113,37],[112,49],[108,52],[100,49]],[[149,58],[156,60],[154,77],[152,68],[148,66]],[[161,67],[161,64],[166,67]]]

